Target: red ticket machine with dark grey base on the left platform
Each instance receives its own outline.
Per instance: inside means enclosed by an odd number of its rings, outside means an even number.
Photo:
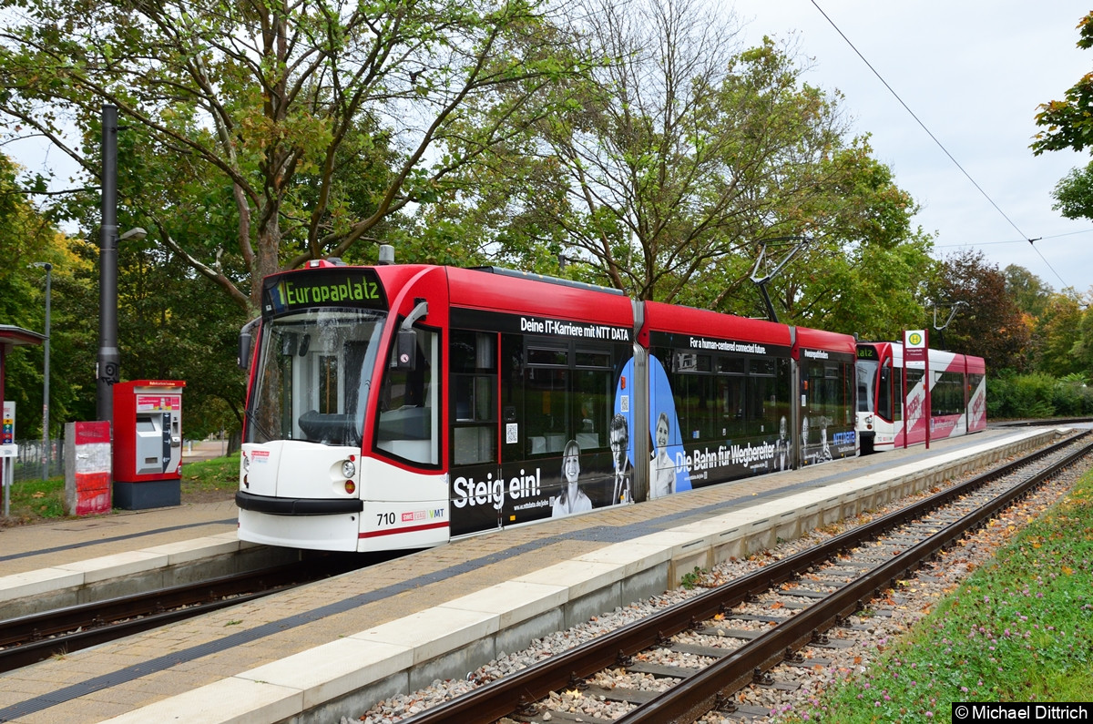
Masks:
[[[183,388],[177,379],[114,385],[114,505],[181,503]]]

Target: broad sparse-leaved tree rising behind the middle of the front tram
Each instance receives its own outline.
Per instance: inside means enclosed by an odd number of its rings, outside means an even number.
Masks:
[[[910,238],[913,200],[868,139],[844,140],[837,96],[803,84],[786,50],[741,49],[724,9],[701,0],[584,7],[581,55],[603,62],[565,86],[579,103],[494,147],[468,170],[473,198],[434,207],[431,225],[459,223],[518,267],[559,273],[564,260],[566,276],[639,299],[742,314],[763,313],[749,279],[762,244],[780,254],[778,238],[808,235],[795,261],[808,271],[777,282],[795,320],[834,317],[827,285],[806,291],[833,265],[849,255],[860,269],[872,244]]]

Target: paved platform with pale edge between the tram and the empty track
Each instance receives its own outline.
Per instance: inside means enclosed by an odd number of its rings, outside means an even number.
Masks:
[[[1056,434],[988,430],[468,538],[2,675],[0,721],[338,721]]]

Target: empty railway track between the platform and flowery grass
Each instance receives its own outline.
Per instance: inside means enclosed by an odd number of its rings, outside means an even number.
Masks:
[[[1088,434],[956,483],[401,721],[607,721],[549,712],[540,702],[559,691],[619,702],[624,711],[613,721],[626,724],[693,722],[712,712],[730,719],[765,715],[766,710],[739,708],[737,692],[756,684],[794,686],[768,674],[781,664],[824,665],[816,652],[850,645],[855,627],[848,617],[1093,452]],[[674,652],[677,661],[687,655],[689,665],[658,664],[658,652],[665,650]],[[619,670],[656,677],[657,686],[653,691],[589,686],[598,673]]]

